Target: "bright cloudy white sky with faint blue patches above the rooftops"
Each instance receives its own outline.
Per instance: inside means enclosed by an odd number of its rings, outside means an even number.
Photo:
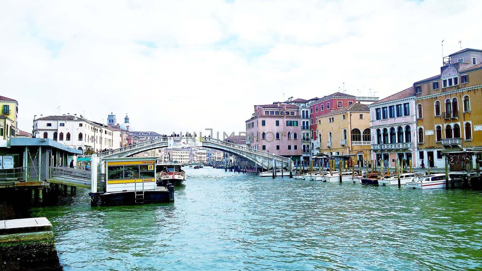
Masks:
[[[18,128],[78,114],[136,131],[245,131],[255,104],[387,97],[482,49],[482,1],[4,1],[1,96]],[[462,45],[460,46],[459,40]],[[59,108],[60,107],[60,108]],[[191,132],[192,133],[192,132]]]

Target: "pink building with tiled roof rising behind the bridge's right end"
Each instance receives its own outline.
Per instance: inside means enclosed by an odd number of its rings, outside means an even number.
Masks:
[[[298,107],[274,103],[255,105],[246,121],[246,145],[284,157],[301,157],[301,117]]]

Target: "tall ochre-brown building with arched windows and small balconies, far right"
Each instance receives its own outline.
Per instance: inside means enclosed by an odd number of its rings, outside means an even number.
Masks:
[[[482,50],[463,49],[446,57],[439,75],[414,83],[419,159],[445,166],[447,151],[482,146]]]

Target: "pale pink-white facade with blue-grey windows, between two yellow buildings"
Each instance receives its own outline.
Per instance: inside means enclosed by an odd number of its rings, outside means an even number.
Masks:
[[[394,167],[396,160],[412,161],[417,166],[415,91],[411,86],[405,90],[381,99],[370,108],[371,160],[388,161]]]

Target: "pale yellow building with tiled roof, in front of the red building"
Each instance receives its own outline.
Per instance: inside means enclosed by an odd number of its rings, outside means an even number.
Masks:
[[[370,109],[354,103],[316,118],[320,153],[331,157],[347,155],[358,160],[369,160],[371,149]]]

